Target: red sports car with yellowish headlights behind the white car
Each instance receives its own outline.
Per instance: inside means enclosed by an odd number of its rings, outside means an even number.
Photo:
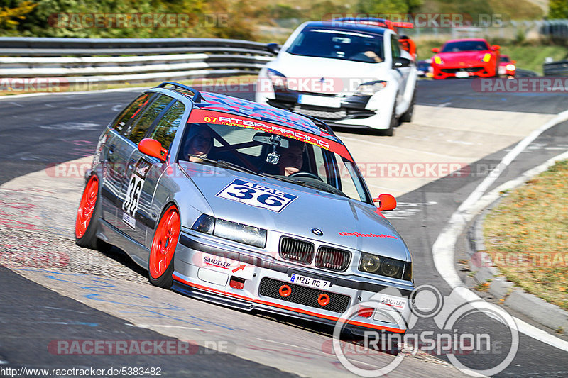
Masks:
[[[469,38],[449,40],[442,49],[433,48],[434,79],[447,77],[498,77],[499,46],[489,47],[486,40]]]

